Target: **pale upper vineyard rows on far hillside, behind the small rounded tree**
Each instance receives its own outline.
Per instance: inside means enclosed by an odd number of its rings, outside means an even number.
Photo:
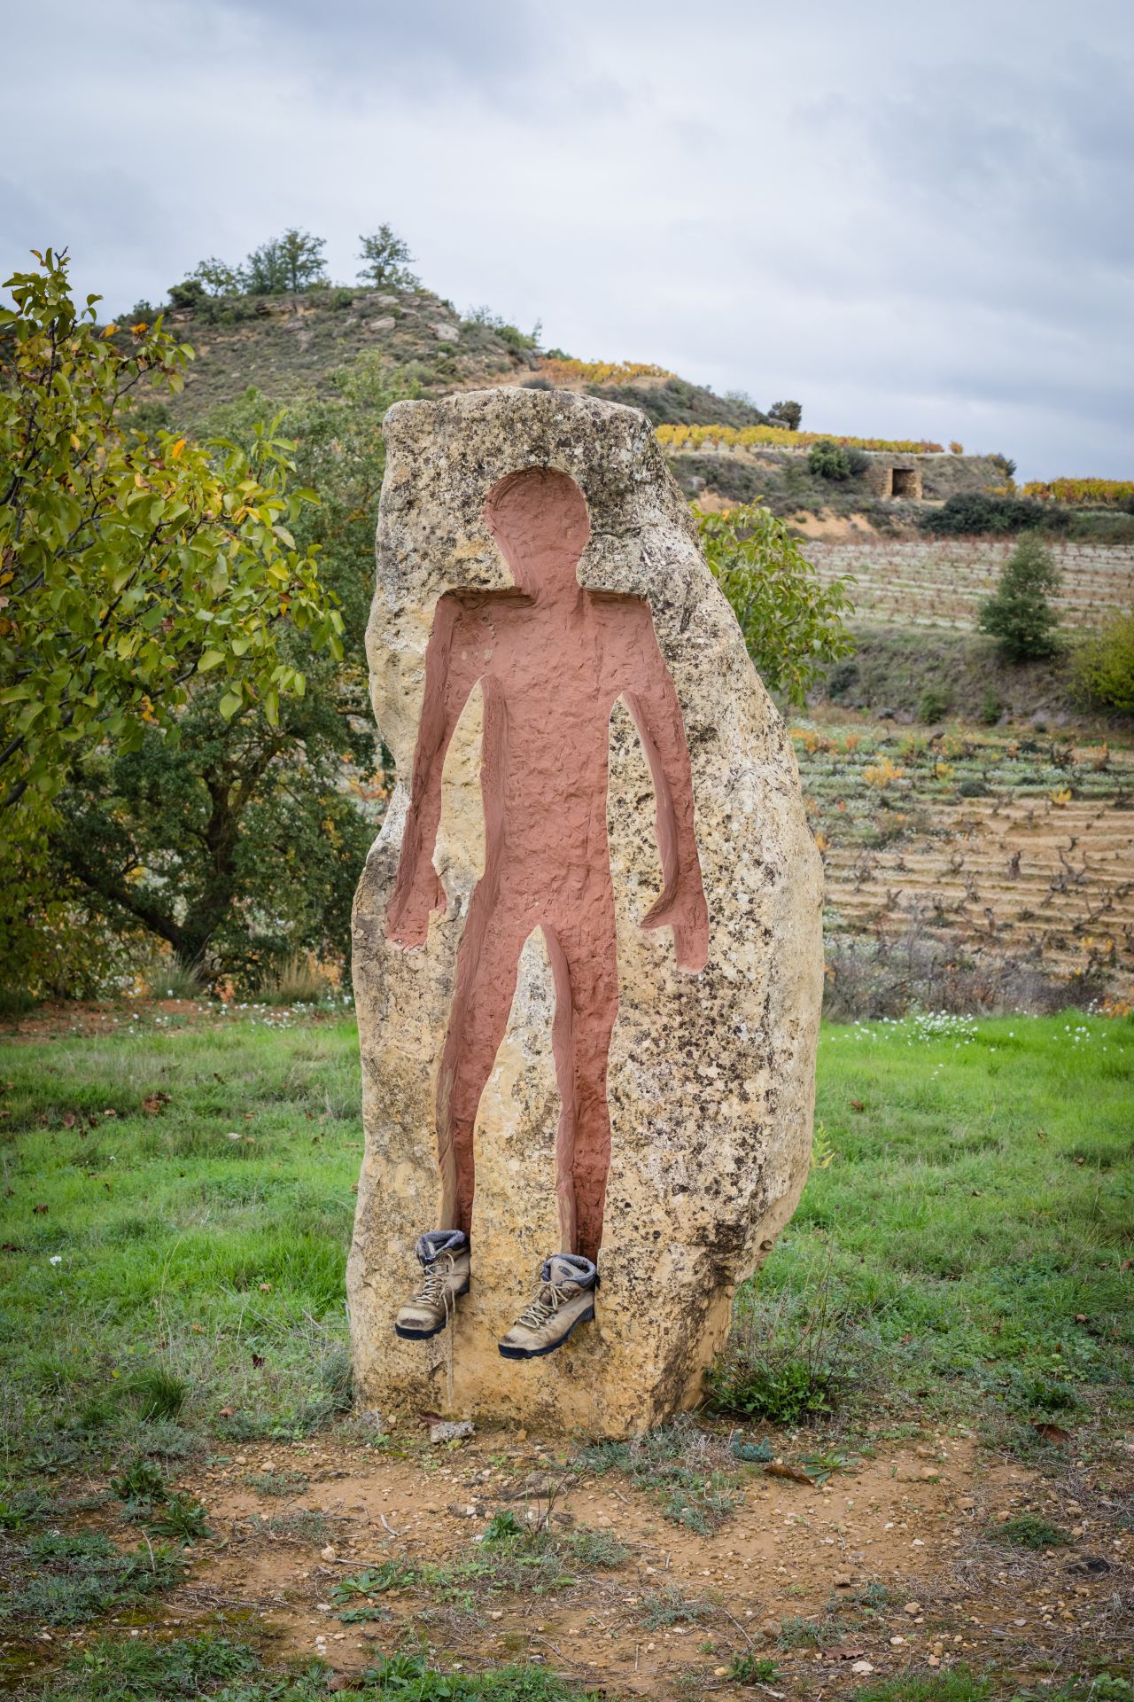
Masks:
[[[972,626],[983,597],[996,585],[1012,540],[870,538],[867,543],[808,540],[804,555],[819,579],[850,574],[850,601],[860,621],[901,626]],[[1134,546],[1054,543],[1063,570],[1056,597],[1064,625],[1098,626],[1134,601]]]

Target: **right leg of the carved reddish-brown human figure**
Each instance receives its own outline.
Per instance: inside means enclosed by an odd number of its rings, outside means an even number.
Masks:
[[[587,905],[585,924],[544,928],[556,980],[553,1050],[559,1079],[556,1191],[563,1251],[598,1258],[610,1169],[607,1059],[619,1011],[614,895]]]

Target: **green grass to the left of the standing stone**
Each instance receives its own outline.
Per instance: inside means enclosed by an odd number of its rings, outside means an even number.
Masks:
[[[10,1462],[303,1435],[347,1404],[352,1021],[9,1045],[0,1086]]]

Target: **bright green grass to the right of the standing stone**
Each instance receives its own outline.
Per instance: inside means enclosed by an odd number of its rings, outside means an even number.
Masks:
[[[792,1362],[1030,1450],[1131,1411],[1134,1021],[828,1025],[818,1117],[835,1157],[738,1299],[750,1416]]]

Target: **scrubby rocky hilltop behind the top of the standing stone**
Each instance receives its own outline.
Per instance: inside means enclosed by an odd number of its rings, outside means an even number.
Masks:
[[[668,439],[666,456],[678,483],[706,507],[758,497],[782,514],[855,512],[884,529],[910,504],[894,507],[879,497],[879,466],[891,468],[896,460],[904,465],[916,454],[925,468],[918,483],[928,500],[991,488],[1005,477],[996,460],[925,453],[921,444],[906,453],[896,443],[869,453],[865,471],[831,483],[811,473],[801,453],[808,436],[796,444],[792,432],[772,429],[782,439],[775,448],[748,441],[753,429],[772,422],[746,397],[717,397],[660,366],[576,361],[558,349],[544,354],[536,337],[515,325],[486,311],[461,317],[428,289],[321,286],[298,294],[209,298],[168,310],[165,322],[196,351],[185,390],[168,410],[187,427],[202,426],[214,408],[236,402],[250,386],[272,402],[326,395],[337,373],[377,356],[423,397],[527,385],[583,390],[641,408]],[[706,429],[721,431],[704,441]]]

